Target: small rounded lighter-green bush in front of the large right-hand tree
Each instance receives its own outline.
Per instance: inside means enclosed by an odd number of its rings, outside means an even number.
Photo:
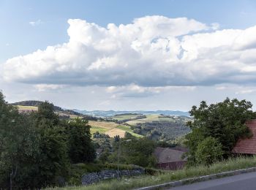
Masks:
[[[197,146],[195,158],[198,164],[210,165],[222,159],[222,144],[214,137],[206,137]]]

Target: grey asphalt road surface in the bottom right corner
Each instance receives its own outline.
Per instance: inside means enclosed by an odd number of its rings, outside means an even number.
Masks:
[[[173,187],[170,190],[256,190],[256,172]]]

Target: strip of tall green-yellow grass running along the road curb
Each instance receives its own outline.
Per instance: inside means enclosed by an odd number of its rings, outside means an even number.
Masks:
[[[121,180],[108,180],[100,183],[93,184],[91,186],[71,186],[64,188],[54,188],[61,190],[122,190],[122,189],[135,189],[143,186],[153,186],[161,183],[167,183],[170,181],[181,180],[186,178],[194,178],[202,175],[211,175],[219,172],[227,172],[231,170],[239,170],[249,167],[256,167],[256,157],[237,159],[228,159],[227,161],[217,162],[209,167],[197,166],[190,167],[184,170],[176,170],[172,172],[166,172],[161,175],[141,175],[133,178],[122,178]],[[53,188],[48,189],[53,190]]]

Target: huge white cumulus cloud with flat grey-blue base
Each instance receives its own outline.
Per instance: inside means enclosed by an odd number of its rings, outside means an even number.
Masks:
[[[106,28],[79,19],[68,23],[69,42],[8,59],[4,80],[76,86],[132,84],[138,94],[163,86],[256,81],[256,26],[218,30],[217,23],[208,26],[163,16],[137,18],[127,25],[110,23]]]

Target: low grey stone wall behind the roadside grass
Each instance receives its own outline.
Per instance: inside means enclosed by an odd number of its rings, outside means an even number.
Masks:
[[[119,170],[119,176],[133,176],[133,175],[142,175],[145,173],[145,170],[142,168],[134,170]],[[111,178],[118,178],[118,170],[102,170],[100,172],[92,172],[82,176],[81,181],[82,185],[89,185],[91,183],[96,183],[99,180],[108,180]]]

